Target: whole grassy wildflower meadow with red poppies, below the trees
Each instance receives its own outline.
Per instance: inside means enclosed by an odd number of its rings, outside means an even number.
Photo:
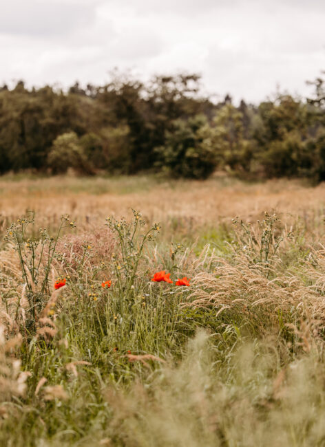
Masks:
[[[0,194],[1,446],[325,446],[323,184]]]

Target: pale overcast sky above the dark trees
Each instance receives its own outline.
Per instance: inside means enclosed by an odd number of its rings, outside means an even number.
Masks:
[[[257,102],[308,94],[325,69],[325,0],[2,0],[0,82],[103,83],[198,72],[205,90]]]

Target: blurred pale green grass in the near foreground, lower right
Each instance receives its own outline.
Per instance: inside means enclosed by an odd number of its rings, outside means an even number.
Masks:
[[[163,368],[151,386],[107,393],[108,445],[324,446],[324,369],[315,352],[284,369],[273,345],[247,343],[219,365],[213,357],[211,338],[198,333],[182,364]]]

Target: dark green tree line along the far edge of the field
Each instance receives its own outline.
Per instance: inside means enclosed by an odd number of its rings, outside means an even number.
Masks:
[[[0,173],[83,175],[163,172],[205,179],[325,180],[325,80],[312,98],[277,94],[259,105],[213,102],[196,74],[147,83],[116,74],[103,86],[68,91],[0,87]]]

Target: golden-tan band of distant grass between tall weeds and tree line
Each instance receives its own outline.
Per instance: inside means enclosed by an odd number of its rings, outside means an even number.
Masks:
[[[264,211],[291,220],[299,216],[306,224],[322,226],[325,185],[273,180],[244,184],[213,178],[206,182],[167,182],[154,177],[0,179],[1,219],[14,219],[25,210],[58,218],[70,214],[94,222],[107,215],[129,216],[140,210],[149,221],[185,219],[194,226],[213,226],[240,216],[259,219]]]

